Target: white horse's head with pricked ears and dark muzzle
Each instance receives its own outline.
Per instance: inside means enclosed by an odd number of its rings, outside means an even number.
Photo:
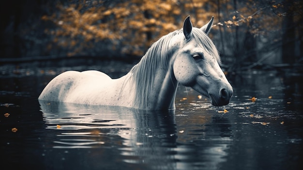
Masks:
[[[233,90],[220,68],[218,51],[207,35],[212,22],[213,17],[202,28],[195,28],[190,16],[184,20],[183,33],[179,32],[171,42],[171,46],[179,46],[173,55],[173,72],[180,84],[209,97],[213,106],[223,106],[229,103]]]

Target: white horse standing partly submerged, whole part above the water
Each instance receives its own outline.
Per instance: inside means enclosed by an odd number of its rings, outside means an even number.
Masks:
[[[129,73],[112,79],[99,71],[67,71],[52,79],[39,100],[163,110],[175,108],[178,84],[210,98],[213,106],[229,103],[233,93],[220,57],[208,37],[213,17],[202,28],[188,16],[183,29],[152,44]]]

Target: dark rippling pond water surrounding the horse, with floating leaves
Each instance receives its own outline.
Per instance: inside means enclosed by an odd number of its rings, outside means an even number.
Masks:
[[[61,70],[64,71],[64,70]],[[0,78],[0,163],[39,170],[301,170],[302,76],[245,72],[216,108],[180,86],[175,111],[39,103],[58,70]],[[111,72],[119,77],[121,73]],[[119,75],[120,74],[120,75]],[[270,97],[271,96],[271,97]],[[257,98],[255,102],[250,100]],[[226,109],[226,113],[224,113]],[[8,117],[4,114],[9,113]],[[12,128],[17,131],[13,132]]]

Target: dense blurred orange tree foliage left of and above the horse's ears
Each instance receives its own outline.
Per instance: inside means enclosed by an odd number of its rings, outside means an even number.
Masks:
[[[45,30],[53,36],[49,48],[64,47],[68,56],[106,50],[115,51],[111,55],[142,56],[153,41],[182,28],[187,15],[195,16],[192,21],[197,26],[205,24],[214,13],[206,12],[204,5],[210,4],[207,0],[127,0],[104,5],[102,0],[82,0],[59,3],[58,12],[42,19],[56,25]]]

